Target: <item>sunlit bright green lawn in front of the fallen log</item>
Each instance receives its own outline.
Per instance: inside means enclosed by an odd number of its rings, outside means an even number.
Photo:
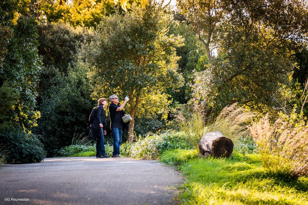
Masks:
[[[183,204],[308,204],[308,177],[269,175],[260,155],[201,159],[193,152],[174,150],[161,156],[161,162],[187,177],[180,187]]]

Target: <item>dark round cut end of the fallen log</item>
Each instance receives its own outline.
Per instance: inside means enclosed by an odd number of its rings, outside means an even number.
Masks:
[[[229,138],[219,137],[212,143],[212,154],[216,157],[228,157],[233,152],[233,142]]]

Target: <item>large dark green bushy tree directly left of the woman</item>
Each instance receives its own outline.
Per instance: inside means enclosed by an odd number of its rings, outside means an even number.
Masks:
[[[74,135],[87,135],[88,117],[95,101],[91,100],[91,87],[87,79],[88,69],[80,63],[68,67],[67,73],[54,69],[52,85],[42,96],[39,107],[41,118],[36,133],[43,136],[48,156],[55,149],[70,145]]]

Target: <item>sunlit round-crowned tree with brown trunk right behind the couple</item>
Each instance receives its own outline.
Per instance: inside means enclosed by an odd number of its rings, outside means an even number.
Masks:
[[[123,99],[128,95],[127,110],[134,119],[164,112],[171,103],[166,89],[182,86],[175,51],[182,39],[167,35],[170,17],[156,3],[131,9],[124,15],[104,17],[84,53],[93,66],[89,75],[95,85],[92,96],[117,94]],[[134,120],[128,140],[132,140],[133,128]]]

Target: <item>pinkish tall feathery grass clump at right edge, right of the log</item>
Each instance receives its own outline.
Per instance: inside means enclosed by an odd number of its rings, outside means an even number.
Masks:
[[[308,127],[294,126],[279,117],[270,124],[266,114],[250,126],[261,154],[262,166],[271,173],[308,175]]]

